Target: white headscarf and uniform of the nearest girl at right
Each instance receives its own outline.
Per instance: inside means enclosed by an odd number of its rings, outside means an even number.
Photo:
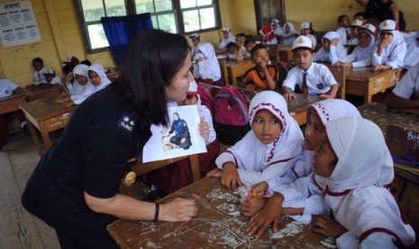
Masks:
[[[336,221],[348,229],[337,238],[338,247],[396,248],[396,240],[413,244],[412,226],[403,222],[395,198],[383,187],[393,180],[394,169],[378,125],[344,117],[326,124],[326,133],[338,161],[331,176],[323,178],[323,196]]]

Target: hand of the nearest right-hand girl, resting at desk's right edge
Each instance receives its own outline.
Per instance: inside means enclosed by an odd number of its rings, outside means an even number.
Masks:
[[[339,222],[325,214],[313,216],[311,225],[313,226],[313,231],[315,233],[333,238],[337,238],[348,231],[348,229],[342,226]]]

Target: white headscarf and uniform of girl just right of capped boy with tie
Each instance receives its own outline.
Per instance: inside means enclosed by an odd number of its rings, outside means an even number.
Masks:
[[[340,35],[338,32],[326,32],[324,34],[323,39],[328,39],[332,41],[332,39],[340,39]],[[329,61],[332,65],[339,60],[342,60],[347,55],[346,49],[342,46],[342,42],[339,41],[336,46],[330,46],[329,51],[324,51],[323,47],[317,51],[314,55],[314,61]]]

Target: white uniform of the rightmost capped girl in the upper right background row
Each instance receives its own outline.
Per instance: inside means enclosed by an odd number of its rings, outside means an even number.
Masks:
[[[405,39],[398,31],[392,31],[393,33],[393,41],[388,44],[383,51],[381,52],[381,56],[378,56],[378,44],[381,41],[378,38],[371,56],[371,64],[372,66],[377,65],[387,65],[390,66],[391,69],[400,69],[405,64],[405,53],[406,53],[406,44]]]

